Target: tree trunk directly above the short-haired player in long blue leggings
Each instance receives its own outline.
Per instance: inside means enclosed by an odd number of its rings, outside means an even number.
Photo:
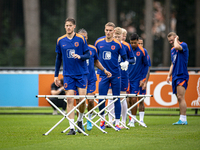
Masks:
[[[117,6],[116,0],[108,0],[108,21],[117,26]]]

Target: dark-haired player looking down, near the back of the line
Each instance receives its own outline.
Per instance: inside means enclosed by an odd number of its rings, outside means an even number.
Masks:
[[[135,56],[135,63],[129,65],[129,82],[130,82],[130,94],[138,94],[140,89],[139,86],[142,83],[142,77],[144,74],[147,74],[148,71],[148,60],[147,60],[147,51],[138,44],[139,36],[136,33],[133,33],[130,36],[130,44],[133,49]],[[129,103],[130,106],[137,102],[137,97],[130,97]],[[132,115],[136,118],[137,106],[131,109]],[[131,118],[130,127],[135,127],[135,121]]]

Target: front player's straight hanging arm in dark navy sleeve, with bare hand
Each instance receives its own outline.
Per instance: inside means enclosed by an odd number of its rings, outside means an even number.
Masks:
[[[55,74],[54,74],[54,82],[56,86],[59,86],[58,74],[59,74],[61,63],[62,63],[62,53],[57,53],[56,64],[55,64]]]

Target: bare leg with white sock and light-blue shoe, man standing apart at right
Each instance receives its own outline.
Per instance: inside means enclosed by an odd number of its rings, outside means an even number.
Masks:
[[[176,83],[178,83],[177,87],[176,87],[176,90],[177,90],[176,96],[177,96],[177,99],[179,102],[180,118],[179,118],[178,122],[174,123],[174,125],[176,125],[176,124],[187,125],[188,124],[187,116],[186,116],[187,104],[185,101],[185,92],[187,89],[187,81],[179,80]]]

